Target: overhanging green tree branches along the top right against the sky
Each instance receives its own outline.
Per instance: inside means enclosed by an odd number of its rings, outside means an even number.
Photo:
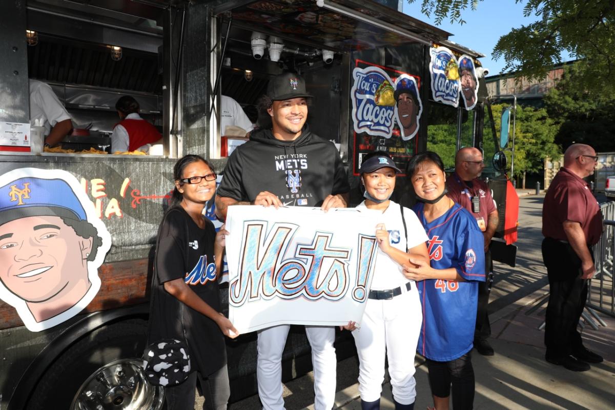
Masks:
[[[413,3],[419,0],[408,0]],[[421,12],[464,23],[462,12],[475,10],[483,0],[420,0]],[[498,1],[498,0],[493,0]],[[523,14],[536,22],[514,28],[501,36],[493,49],[495,59],[504,58],[504,72],[518,77],[542,79],[549,69],[569,53],[585,60],[582,82],[585,89],[604,87],[615,91],[615,1],[614,0],[515,0],[525,2]]]

